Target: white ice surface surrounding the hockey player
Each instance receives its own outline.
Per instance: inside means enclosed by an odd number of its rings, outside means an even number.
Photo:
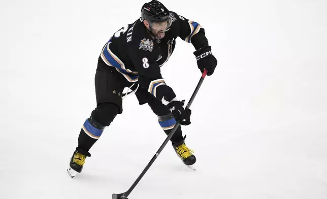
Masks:
[[[165,140],[151,109],[128,96],[83,173],[66,172],[95,107],[100,51],[143,3],[0,3],[1,199],[109,199],[132,185]],[[327,198],[327,2],[162,3],[206,28],[218,65],[183,127],[197,171],[169,144],[129,198]],[[201,76],[193,51],[178,39],[162,67],[186,101]]]

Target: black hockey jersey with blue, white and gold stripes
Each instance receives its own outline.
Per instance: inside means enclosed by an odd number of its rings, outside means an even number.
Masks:
[[[164,104],[176,97],[160,74],[174,52],[177,37],[192,43],[195,50],[208,45],[204,28],[175,12],[170,12],[172,25],[165,37],[151,37],[141,18],[119,29],[104,46],[101,57],[110,67],[123,75],[129,82],[136,82]]]

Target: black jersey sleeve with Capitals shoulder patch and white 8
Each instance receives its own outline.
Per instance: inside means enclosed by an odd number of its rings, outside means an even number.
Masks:
[[[139,85],[167,105],[174,100],[176,94],[161,76],[160,67],[156,63],[158,49],[150,36],[139,40],[136,38],[128,45],[128,54],[139,75]]]

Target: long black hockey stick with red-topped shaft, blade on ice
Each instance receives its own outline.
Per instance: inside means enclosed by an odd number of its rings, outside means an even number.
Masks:
[[[205,69],[205,71],[203,72],[201,79],[197,85],[197,87],[195,88],[189,102],[186,105],[185,109],[189,109],[189,107],[191,106],[195,95],[197,95],[202,82],[204,80],[204,78],[207,75],[207,70]],[[150,162],[146,165],[146,167],[144,168],[144,170],[142,171],[142,173],[140,174],[140,176],[136,179],[136,181],[133,183],[133,185],[124,193],[113,193],[112,194],[112,199],[127,199],[127,196],[130,194],[130,192],[133,191],[133,189],[136,187],[136,185],[140,182],[140,180],[142,179],[142,177],[144,176],[144,174],[148,171],[148,169],[151,167],[152,163],[154,162],[154,160],[159,156],[160,152],[162,151],[162,149],[164,149],[164,147],[167,145],[167,143],[170,141],[170,139],[173,137],[173,135],[175,134],[175,131],[177,130],[177,128],[179,127],[180,123],[177,122],[176,125],[174,126],[174,128],[171,130],[169,136],[166,138],[165,142],[162,143],[162,145],[160,146],[160,148],[158,149],[158,151],[154,154],[154,156],[152,157],[152,159],[150,160]]]

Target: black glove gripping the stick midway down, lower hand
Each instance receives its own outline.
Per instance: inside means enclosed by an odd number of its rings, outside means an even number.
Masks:
[[[190,116],[191,116],[191,110],[190,109],[184,109],[185,100],[182,102],[180,101],[172,101],[167,106],[171,109],[172,114],[176,121],[179,121],[181,125],[189,125],[190,122]]]

